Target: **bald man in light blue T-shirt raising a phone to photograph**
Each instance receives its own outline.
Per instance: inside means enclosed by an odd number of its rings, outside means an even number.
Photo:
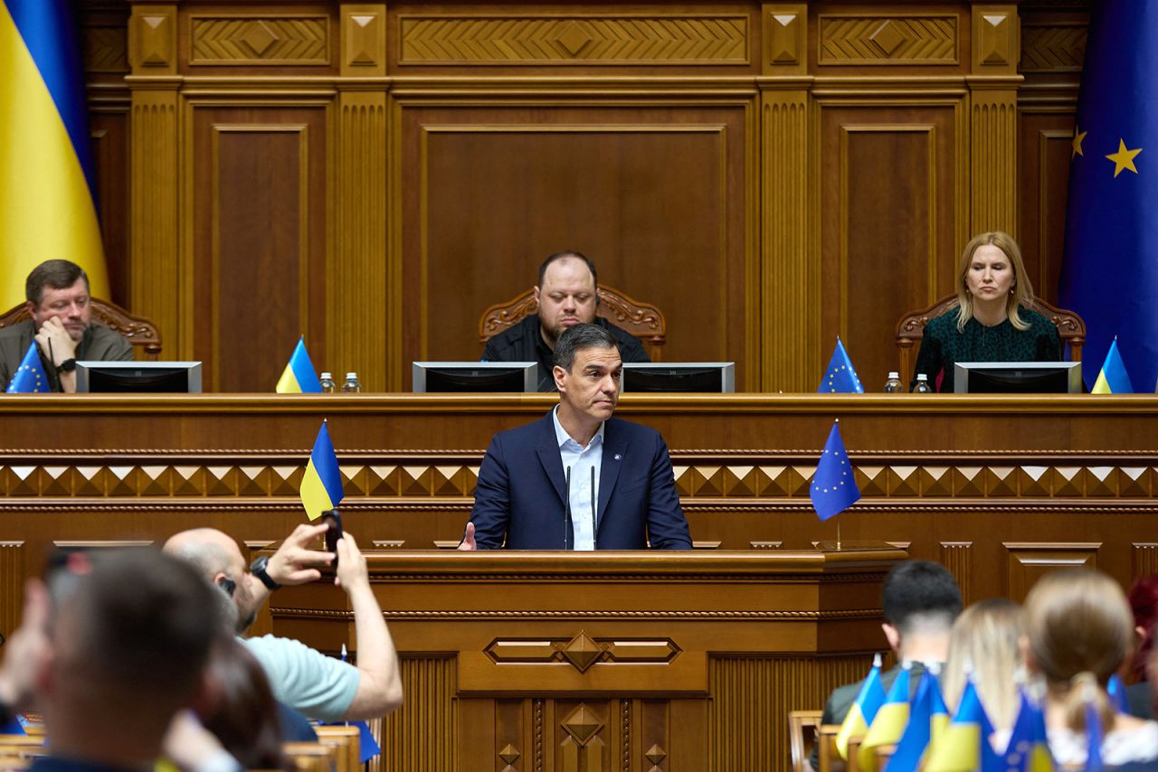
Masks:
[[[164,551],[193,563],[207,582],[233,598],[241,634],[270,593],[321,578],[316,566],[332,563],[335,553],[309,544],[325,530],[324,524],[299,525],[273,557],[259,557],[249,571],[233,537],[212,528],[182,531],[166,542]],[[371,589],[366,559],[350,531],[338,539],[337,559],[335,583],[350,596],[354,612],[357,667],[290,638],[262,635],[243,642],[264,668],[278,701],[323,721],[380,718],[402,705],[397,653]]]

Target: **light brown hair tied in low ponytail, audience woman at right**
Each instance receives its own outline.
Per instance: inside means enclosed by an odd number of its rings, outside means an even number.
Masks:
[[[1063,699],[1067,725],[1084,730],[1092,699],[1102,726],[1113,727],[1106,685],[1134,645],[1134,615],[1117,582],[1089,568],[1046,574],[1025,600],[1025,626],[1032,664]]]

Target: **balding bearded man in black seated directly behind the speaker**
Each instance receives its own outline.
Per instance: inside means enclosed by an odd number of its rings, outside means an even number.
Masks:
[[[596,286],[595,264],[585,255],[572,250],[551,255],[538,267],[538,314],[488,340],[483,361],[538,362],[538,390],[555,391],[555,341],[567,328],[584,323],[610,332],[624,362],[650,362],[639,338],[595,316]]]

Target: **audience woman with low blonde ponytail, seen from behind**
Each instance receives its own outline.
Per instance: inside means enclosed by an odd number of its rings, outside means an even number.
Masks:
[[[1101,719],[1108,766],[1158,760],[1158,723],[1116,713],[1109,677],[1133,652],[1134,616],[1122,588],[1086,568],[1047,574],[1025,600],[1026,666],[1046,682],[1049,750],[1063,766],[1085,764],[1086,706]]]

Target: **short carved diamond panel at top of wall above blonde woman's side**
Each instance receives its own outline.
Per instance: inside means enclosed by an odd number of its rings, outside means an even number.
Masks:
[[[955,15],[820,14],[821,65],[955,65]]]

